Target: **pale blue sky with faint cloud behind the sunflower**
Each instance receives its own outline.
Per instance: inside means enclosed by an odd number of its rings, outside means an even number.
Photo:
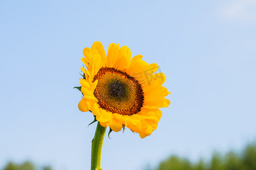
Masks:
[[[158,63],[172,92],[150,136],[105,137],[103,169],[207,159],[256,139],[255,0],[0,1],[0,167],[90,169],[96,124],[73,87],[94,41]]]

